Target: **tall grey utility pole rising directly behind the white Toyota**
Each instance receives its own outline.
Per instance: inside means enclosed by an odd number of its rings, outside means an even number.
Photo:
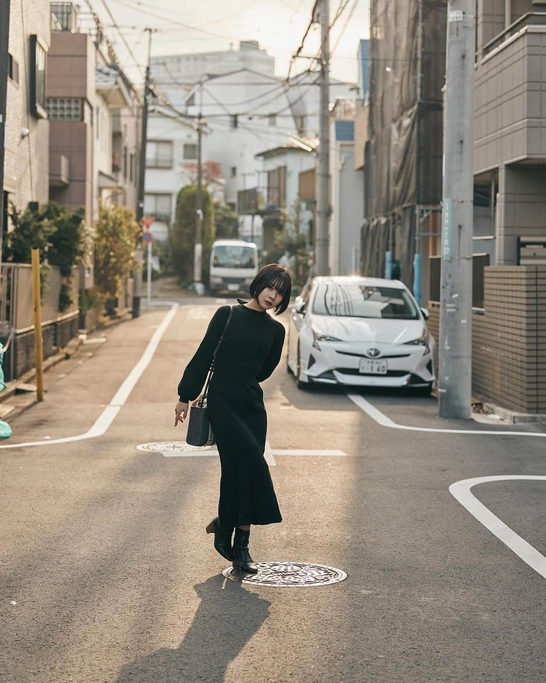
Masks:
[[[330,218],[330,17],[328,0],[316,5],[320,23],[320,102],[319,102],[319,173],[317,197],[317,233],[315,265],[317,275],[328,275],[328,220]]]

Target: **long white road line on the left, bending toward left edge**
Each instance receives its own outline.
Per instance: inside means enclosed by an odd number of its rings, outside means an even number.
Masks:
[[[85,432],[84,434],[77,434],[76,436],[66,436],[65,438],[52,438],[48,441],[44,440],[27,441],[25,443],[5,443],[3,445],[0,445],[0,449],[23,448],[27,446],[49,446],[53,443],[71,443],[72,441],[84,441],[87,438],[95,438],[96,436],[102,436],[102,434],[105,434],[111,426],[111,424],[113,423],[113,421],[115,420],[117,413],[119,413],[119,410],[121,410],[121,406],[123,406],[126,400],[129,398],[131,391],[134,389],[134,385],[137,384],[139,378],[141,378],[143,372],[149,365],[149,362],[154,357],[154,353],[158,348],[161,337],[163,336],[164,331],[169,326],[171,320],[173,320],[177,308],[179,307],[179,304],[173,301],[154,301],[153,303],[154,305],[171,304],[171,309],[167,312],[167,315],[163,318],[161,324],[158,326],[158,329],[156,329],[156,331],[152,335],[152,339],[149,340],[137,365],[133,367],[131,372],[122,382],[121,387],[119,387],[119,389],[116,391],[114,398],[106,406],[106,408],[104,408],[102,413],[100,413],[94,425],[91,426],[91,428],[89,428],[87,432]]]

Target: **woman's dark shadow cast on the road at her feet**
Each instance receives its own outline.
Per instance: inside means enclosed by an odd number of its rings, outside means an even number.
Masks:
[[[156,650],[124,666],[117,683],[224,680],[227,665],[265,622],[271,603],[221,574],[194,588],[201,602],[179,647]]]

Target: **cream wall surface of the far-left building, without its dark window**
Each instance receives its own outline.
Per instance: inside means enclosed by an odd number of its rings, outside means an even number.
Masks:
[[[21,8],[21,4],[23,5]],[[6,109],[4,190],[20,209],[29,201],[48,200],[49,122],[29,111],[30,36],[38,35],[46,49],[50,44],[48,0],[19,0],[10,12],[10,54],[19,67],[19,82],[8,79]],[[29,128],[27,137],[21,136]]]

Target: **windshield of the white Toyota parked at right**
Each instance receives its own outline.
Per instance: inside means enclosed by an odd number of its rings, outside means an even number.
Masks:
[[[418,320],[416,305],[405,290],[364,283],[320,283],[313,303],[318,316]]]

